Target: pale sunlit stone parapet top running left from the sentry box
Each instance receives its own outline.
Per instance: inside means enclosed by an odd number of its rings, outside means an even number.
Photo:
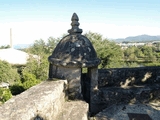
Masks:
[[[2,120],[43,120],[57,117],[65,101],[67,81],[45,81],[8,100],[0,106]]]

